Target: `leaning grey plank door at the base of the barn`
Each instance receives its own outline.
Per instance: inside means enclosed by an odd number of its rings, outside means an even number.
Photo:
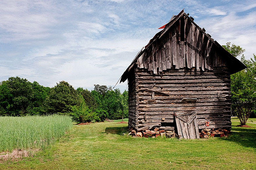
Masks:
[[[196,110],[175,111],[179,138],[199,139]]]

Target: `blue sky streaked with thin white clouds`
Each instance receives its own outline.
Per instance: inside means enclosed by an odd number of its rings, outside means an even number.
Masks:
[[[3,0],[0,81],[113,87],[157,28],[183,8],[220,44],[240,45],[246,59],[256,54],[255,0]],[[116,87],[128,89],[127,82]]]

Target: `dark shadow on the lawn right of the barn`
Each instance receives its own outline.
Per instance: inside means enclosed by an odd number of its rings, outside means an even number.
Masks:
[[[235,142],[245,147],[256,148],[256,129],[232,126],[232,133],[228,138],[220,138],[225,141]]]

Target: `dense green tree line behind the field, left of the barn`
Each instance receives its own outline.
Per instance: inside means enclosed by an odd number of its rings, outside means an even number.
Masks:
[[[105,85],[92,91],[75,89],[66,81],[53,88],[26,78],[10,77],[0,82],[0,116],[68,114],[77,122],[128,117],[128,91]]]

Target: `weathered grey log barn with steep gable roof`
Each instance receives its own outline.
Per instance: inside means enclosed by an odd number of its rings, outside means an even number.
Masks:
[[[188,139],[206,127],[230,130],[230,75],[245,65],[184,10],[163,27],[121,76],[128,79],[129,127]]]

